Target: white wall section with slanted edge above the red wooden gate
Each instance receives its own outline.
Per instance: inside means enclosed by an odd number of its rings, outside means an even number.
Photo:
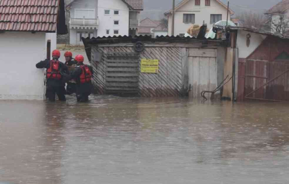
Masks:
[[[250,34],[250,45],[247,47],[247,34]],[[263,42],[267,36],[262,34],[250,33],[238,30],[237,48],[239,50],[239,58],[247,58],[257,47]]]

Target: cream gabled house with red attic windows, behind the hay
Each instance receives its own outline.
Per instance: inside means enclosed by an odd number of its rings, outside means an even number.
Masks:
[[[192,24],[207,24],[211,29],[213,24],[227,19],[228,8],[220,0],[183,0],[175,7],[174,36],[183,36]],[[234,12],[229,9],[228,19]],[[168,34],[172,35],[172,10],[165,13],[168,16]]]

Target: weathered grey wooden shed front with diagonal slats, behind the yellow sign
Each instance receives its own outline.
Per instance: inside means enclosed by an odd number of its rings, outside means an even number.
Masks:
[[[214,90],[223,78],[225,54],[217,57],[217,47],[199,44],[145,43],[135,59],[112,59],[113,53],[135,53],[133,44],[101,44],[92,47],[93,85],[98,94],[135,93],[141,97],[200,97],[201,91]],[[220,49],[222,50],[222,49]],[[158,73],[142,73],[141,59],[158,59]],[[222,81],[219,79],[220,81]]]

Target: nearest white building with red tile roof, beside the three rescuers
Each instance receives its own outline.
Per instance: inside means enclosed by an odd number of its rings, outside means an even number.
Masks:
[[[0,1],[0,100],[44,99],[35,64],[56,49],[56,28],[67,33],[64,8],[64,0]]]

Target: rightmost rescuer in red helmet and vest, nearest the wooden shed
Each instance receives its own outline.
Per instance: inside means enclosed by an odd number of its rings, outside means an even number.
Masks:
[[[76,80],[77,102],[87,102],[88,96],[92,91],[91,79],[93,75],[93,69],[91,66],[83,64],[84,57],[81,54],[76,55],[75,60],[78,66],[74,69],[69,78]]]

